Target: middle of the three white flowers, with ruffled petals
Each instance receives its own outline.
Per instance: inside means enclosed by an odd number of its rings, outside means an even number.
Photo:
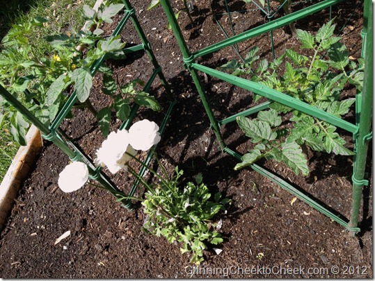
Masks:
[[[129,145],[129,132],[127,130],[112,132],[97,150],[95,164],[108,167],[111,173],[117,173],[120,169],[126,170],[126,164],[131,156],[125,152],[136,155],[134,148]]]

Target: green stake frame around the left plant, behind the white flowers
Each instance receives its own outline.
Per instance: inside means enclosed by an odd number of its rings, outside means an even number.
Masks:
[[[169,107],[168,110],[164,116],[164,119],[162,121],[162,124],[160,126],[159,133],[162,134],[164,128],[166,127],[166,123],[170,117],[170,113],[173,110],[173,106],[176,103],[175,97],[173,94],[170,92],[169,85],[166,81],[165,76],[161,72],[161,67],[159,66],[159,63],[157,62],[156,57],[154,56],[154,53],[152,52],[150,42],[148,42],[147,37],[145,36],[145,33],[143,33],[143,30],[141,28],[141,25],[138,22],[138,19],[136,18],[136,12],[134,8],[131,6],[129,0],[122,0],[123,3],[125,4],[125,10],[124,10],[124,15],[122,19],[120,20],[118,26],[116,26],[115,30],[113,31],[111,37],[119,35],[122,31],[122,29],[125,27],[125,24],[127,24],[128,20],[131,19],[132,23],[134,24],[136,31],[138,33],[138,36],[141,39],[142,44],[138,44],[136,46],[131,46],[129,48],[123,49],[123,52],[125,54],[129,53],[134,53],[136,51],[141,51],[144,50],[147,55],[149,56],[152,65],[154,67],[154,71],[152,72],[151,77],[149,80],[147,80],[147,83],[145,87],[143,88],[143,92],[148,92],[150,90],[150,87],[156,78],[156,76],[159,76],[159,79],[161,81],[161,85],[166,89],[166,93],[168,95],[168,100],[169,100]],[[97,69],[99,69],[100,65],[102,65],[102,62],[106,60],[106,55],[102,56],[102,58],[99,58],[96,60],[93,65],[90,67],[90,73],[92,76],[95,75],[97,72]],[[120,191],[115,185],[113,185],[113,182],[111,182],[109,179],[106,178],[104,173],[101,171],[101,167],[95,167],[93,164],[93,161],[89,159],[84,153],[81,151],[81,149],[76,146],[68,137],[63,130],[61,130],[60,125],[61,122],[65,119],[67,114],[72,110],[72,107],[74,103],[77,102],[77,91],[74,90],[72,95],[67,99],[67,102],[63,106],[63,108],[58,112],[56,118],[54,121],[52,121],[51,125],[49,127],[45,126],[45,124],[42,124],[42,122],[36,118],[22,103],[17,101],[15,97],[10,94],[4,87],[0,85],[0,95],[3,96],[6,101],[8,101],[11,105],[13,105],[17,111],[22,113],[24,117],[29,119],[32,124],[34,124],[42,133],[42,137],[44,139],[47,139],[51,142],[54,142],[58,148],[60,148],[65,154],[67,154],[70,157],[70,160],[72,161],[81,161],[84,162],[88,166],[88,171],[89,171],[89,178],[91,180],[97,180],[102,187],[107,189],[115,198],[118,198],[118,196],[122,197],[127,197],[127,195],[123,194],[122,191]],[[120,126],[120,130],[122,129],[129,129],[131,126],[131,121],[133,121],[134,117],[136,116],[136,112],[139,108],[139,105],[134,104],[131,107],[131,112],[129,114],[129,119],[125,122],[122,123]],[[156,148],[156,146],[154,146]],[[145,165],[148,165],[150,161],[152,160],[152,153],[148,153],[146,160],[145,160]],[[139,176],[143,176],[145,173],[146,169],[143,166]],[[138,180],[134,182],[134,185],[131,187],[131,191],[128,194],[129,197],[133,196],[136,188],[138,187]],[[123,199],[121,201],[122,206],[126,208],[131,208],[131,202],[129,199]]]

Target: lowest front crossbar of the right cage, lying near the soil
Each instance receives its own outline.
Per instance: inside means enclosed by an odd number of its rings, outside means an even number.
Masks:
[[[232,151],[230,148],[228,148],[228,147],[224,148],[224,151],[229,153],[230,155],[236,157],[238,160],[241,160],[241,155],[239,153],[236,153],[236,152]],[[333,212],[330,212],[330,210],[328,210],[326,207],[324,207],[321,204],[315,202],[312,198],[310,198],[306,194],[303,194],[303,192],[296,189],[296,187],[293,187],[292,185],[289,185],[289,183],[286,182],[285,180],[283,180],[282,178],[280,178],[277,175],[271,173],[270,171],[267,171],[266,169],[260,167],[257,164],[251,164],[249,167],[251,169],[253,169],[254,171],[256,171],[257,173],[260,173],[261,175],[266,176],[266,178],[269,178],[273,182],[276,182],[278,185],[280,185],[280,187],[289,191],[291,194],[293,194],[297,198],[300,198],[305,203],[308,203],[308,205],[313,207],[315,210],[321,212],[322,214],[325,214],[326,216],[330,217],[330,219],[333,219],[337,223],[340,223],[340,225],[344,226],[345,228],[348,228],[348,223],[346,221],[341,219],[336,214],[333,214]],[[353,230],[359,232],[360,228],[354,228]]]

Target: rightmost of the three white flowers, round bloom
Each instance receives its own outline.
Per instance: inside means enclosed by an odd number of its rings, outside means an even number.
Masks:
[[[144,119],[129,128],[129,143],[136,150],[147,151],[160,142],[159,126],[153,121]]]

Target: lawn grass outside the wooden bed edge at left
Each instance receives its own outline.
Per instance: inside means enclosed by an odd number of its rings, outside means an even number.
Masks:
[[[4,2],[0,7],[0,38],[7,33],[17,33],[17,28],[14,26],[26,25],[35,17],[45,17],[49,19],[49,22],[44,28],[33,28],[30,33],[22,33],[20,36],[31,38],[39,56],[49,56],[52,48],[42,38],[51,34],[69,34],[79,31],[85,22],[81,12],[83,4],[93,6],[95,0],[10,0]],[[13,143],[7,124],[0,124],[0,182],[18,148],[19,146]]]

